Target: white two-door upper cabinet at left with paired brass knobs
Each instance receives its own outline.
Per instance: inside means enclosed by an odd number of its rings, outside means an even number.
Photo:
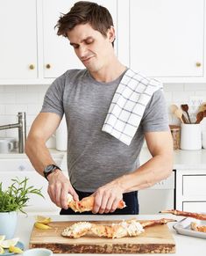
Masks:
[[[61,13],[67,13],[75,2],[0,3],[0,84],[51,84],[67,69],[84,68],[69,41],[54,30]],[[95,2],[109,9],[116,25],[117,0]]]

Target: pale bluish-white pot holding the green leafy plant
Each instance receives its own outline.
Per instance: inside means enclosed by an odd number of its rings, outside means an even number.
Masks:
[[[17,211],[0,212],[0,235],[5,235],[5,239],[14,238],[17,223]]]

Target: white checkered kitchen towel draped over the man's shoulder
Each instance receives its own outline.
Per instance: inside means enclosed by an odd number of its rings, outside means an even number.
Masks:
[[[162,84],[128,69],[111,100],[102,130],[130,145],[139,128],[146,105]]]

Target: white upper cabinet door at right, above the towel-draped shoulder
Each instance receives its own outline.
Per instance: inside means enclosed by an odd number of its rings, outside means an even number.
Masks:
[[[121,13],[123,8],[129,12],[129,42],[121,30],[119,55],[131,69],[149,77],[203,76],[204,0],[128,0],[121,5]]]

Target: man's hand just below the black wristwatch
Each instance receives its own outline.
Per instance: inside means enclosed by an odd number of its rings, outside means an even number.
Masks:
[[[72,187],[70,181],[60,170],[56,170],[47,176],[47,192],[51,200],[60,208],[67,209],[67,194],[72,194],[75,201],[79,200],[78,194]]]

